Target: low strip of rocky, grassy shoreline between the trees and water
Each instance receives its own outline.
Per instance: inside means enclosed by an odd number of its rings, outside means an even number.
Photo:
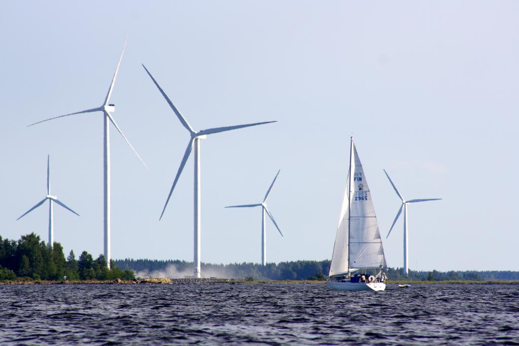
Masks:
[[[0,281],[0,285],[186,285],[186,284],[220,284],[226,283],[231,285],[236,284],[324,284],[326,281],[317,280],[245,280],[245,279],[225,279],[225,278],[209,278],[209,279],[134,279],[134,280],[5,280]],[[425,284],[425,285],[442,285],[442,284],[457,284],[457,285],[519,285],[519,280],[452,280],[452,281],[418,281],[418,280],[388,280],[388,285],[397,284]]]

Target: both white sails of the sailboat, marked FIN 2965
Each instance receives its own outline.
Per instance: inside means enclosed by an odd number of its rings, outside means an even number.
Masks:
[[[351,269],[386,267],[370,188],[353,139],[347,178],[330,276],[345,274]]]

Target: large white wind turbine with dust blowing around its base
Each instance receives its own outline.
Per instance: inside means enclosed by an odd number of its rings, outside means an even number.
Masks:
[[[149,73],[148,69],[144,64],[142,65],[144,67],[144,70],[146,70],[146,73],[149,75],[150,78],[152,78],[153,82],[155,83],[155,86],[159,89],[160,93],[166,101],[168,102],[171,109],[173,109],[173,112],[176,114],[176,116],[179,118],[182,125],[189,131],[190,138],[189,142],[187,143],[187,148],[184,153],[184,157],[182,158],[182,161],[180,162],[179,171],[176,172],[175,179],[173,180],[173,185],[171,186],[171,190],[169,191],[168,199],[166,200],[166,204],[164,205],[164,208],[162,209],[162,213],[160,214],[160,219],[162,219],[162,216],[164,215],[164,211],[166,210],[166,206],[168,205],[169,199],[171,197],[171,193],[173,193],[173,189],[176,186],[177,181],[179,180],[180,174],[182,173],[182,170],[184,169],[184,166],[186,164],[187,159],[189,158],[189,155],[191,154],[191,151],[194,147],[195,151],[195,191],[194,191],[194,209],[195,209],[195,217],[194,217],[194,263],[195,263],[195,278],[200,278],[200,140],[206,139],[208,134],[218,133],[218,132],[225,132],[230,130],[236,130],[241,129],[245,127],[251,127],[256,125],[262,125],[262,124],[268,124],[270,122],[276,122],[276,121],[264,121],[264,122],[255,122],[251,124],[243,124],[243,125],[235,125],[235,126],[226,126],[226,127],[218,127],[218,128],[212,128],[207,130],[201,130],[198,132],[195,132],[193,128],[189,125],[189,123],[184,119],[182,114],[179,112],[178,109],[173,105],[171,100],[168,98],[168,95],[162,90],[162,88],[158,85],[155,78],[153,78],[152,74]]]

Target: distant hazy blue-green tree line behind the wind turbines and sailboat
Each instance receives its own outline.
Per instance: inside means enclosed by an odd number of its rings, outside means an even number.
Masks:
[[[193,275],[193,262],[181,260],[153,259],[120,259],[114,263],[122,269],[134,272],[167,272],[173,266],[176,272]],[[253,278],[255,280],[325,280],[330,272],[328,259],[321,261],[298,260],[268,263],[262,266],[257,263],[209,264],[202,263],[202,274],[215,275],[223,278]],[[385,273],[389,280],[417,281],[483,281],[483,280],[519,280],[518,271],[416,271],[409,270],[404,274],[403,268],[387,268]]]

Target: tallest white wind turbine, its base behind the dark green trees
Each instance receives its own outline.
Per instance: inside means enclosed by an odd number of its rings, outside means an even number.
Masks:
[[[106,94],[106,98],[104,99],[103,104],[100,107],[92,108],[92,109],[86,109],[81,110],[81,112],[76,113],[70,113],[61,115],[59,117],[54,117],[42,121],[38,121],[35,123],[30,124],[29,126],[33,126],[35,124],[38,124],[40,122],[58,119],[62,117],[67,117],[71,115],[81,114],[81,113],[91,113],[91,112],[103,112],[103,123],[104,123],[104,136],[103,136],[103,168],[104,168],[104,258],[106,259],[106,264],[108,266],[108,269],[110,269],[110,259],[111,259],[111,229],[110,229],[110,215],[111,215],[111,205],[110,205],[110,122],[114,125],[115,129],[121,134],[121,136],[125,139],[126,143],[130,146],[130,148],[133,150],[135,155],[141,160],[141,162],[146,167],[146,164],[142,160],[142,158],[137,154],[137,151],[133,148],[133,146],[130,144],[126,136],[122,133],[122,131],[117,126],[117,123],[115,122],[114,118],[112,117],[111,112],[115,112],[115,106],[114,104],[109,103],[110,102],[110,96],[112,96],[112,90],[114,89],[115,84],[115,78],[117,77],[117,73],[119,72],[119,66],[121,64],[122,54],[125,52],[126,47],[126,41],[125,44],[122,47],[121,56],[119,58],[119,62],[117,63],[117,67],[115,69],[114,77],[112,78],[112,82],[110,84],[110,88],[108,88],[108,93]],[[147,167],[146,167],[147,168]]]

